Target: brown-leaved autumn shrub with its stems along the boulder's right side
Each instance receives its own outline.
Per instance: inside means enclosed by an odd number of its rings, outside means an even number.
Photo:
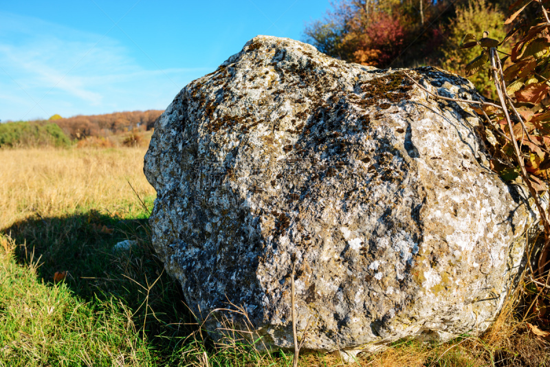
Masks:
[[[536,9],[534,16],[526,14],[529,5]],[[544,229],[544,238],[527,243],[529,281],[522,302],[529,304],[525,312],[531,313],[525,317],[546,328],[550,324],[550,212],[543,202],[550,181],[549,7],[550,0],[517,0],[509,6],[505,23],[512,27],[502,41],[490,38],[489,32],[481,37],[465,34],[460,46],[481,51],[465,65],[465,72],[468,76],[487,72],[498,95],[495,103],[478,101],[477,107],[472,106],[485,120],[485,133],[494,135],[489,144],[491,168],[505,181],[527,186]],[[511,39],[515,40],[511,52],[501,52],[500,47]],[[528,326],[531,333],[548,340],[549,331]]]

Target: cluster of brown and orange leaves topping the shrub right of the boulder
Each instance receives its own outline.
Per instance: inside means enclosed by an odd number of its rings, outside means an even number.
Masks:
[[[516,161],[525,161],[522,163],[525,163],[527,172],[531,174],[529,181],[537,190],[546,190],[541,180],[550,179],[550,22],[544,8],[533,19],[520,16],[531,2],[533,0],[518,0],[510,6],[506,23],[514,23],[514,27],[502,41],[489,38],[488,32],[479,39],[475,34],[466,34],[461,48],[481,49],[479,56],[465,65],[468,76],[494,72],[494,67],[502,70],[496,85],[502,89],[502,103],[509,111],[488,106],[478,111],[485,112],[494,121],[497,135],[507,137],[502,142],[503,158],[511,156]],[[550,0],[534,2],[549,5]],[[513,37],[517,41],[511,47],[511,54],[501,53],[503,58],[500,59],[496,52],[500,52],[500,46]],[[494,67],[491,65],[491,49],[495,50]],[[509,66],[503,67],[505,63]],[[507,118],[507,114],[511,118]],[[511,153],[514,140],[522,157],[514,157]],[[514,159],[507,163],[510,167],[519,164],[514,164]],[[502,167],[500,170],[505,179],[514,179],[519,175],[519,168],[510,170],[498,162],[495,162],[495,166],[497,170]]]

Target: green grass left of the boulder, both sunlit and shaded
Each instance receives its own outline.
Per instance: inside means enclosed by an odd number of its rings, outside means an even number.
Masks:
[[[0,366],[269,365],[273,356],[214,344],[197,326],[151,246],[153,199],[122,204],[122,215],[80,209],[0,232]],[[113,252],[126,239],[136,244]]]

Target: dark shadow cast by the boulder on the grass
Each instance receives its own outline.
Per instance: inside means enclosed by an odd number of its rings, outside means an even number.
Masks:
[[[142,215],[145,216],[145,215]],[[121,219],[96,210],[34,218],[0,229],[19,248],[19,263],[38,261],[38,275],[54,283],[66,271],[65,284],[85,302],[115,300],[133,313],[137,333],[151,348],[169,357],[197,330],[177,282],[151,245],[146,218]],[[121,241],[128,249],[115,249]]]

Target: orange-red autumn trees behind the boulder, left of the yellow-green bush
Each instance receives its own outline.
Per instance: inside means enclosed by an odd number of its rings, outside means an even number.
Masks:
[[[320,52],[364,65],[412,65],[443,41],[442,25],[463,0],[340,0],[306,25]]]

